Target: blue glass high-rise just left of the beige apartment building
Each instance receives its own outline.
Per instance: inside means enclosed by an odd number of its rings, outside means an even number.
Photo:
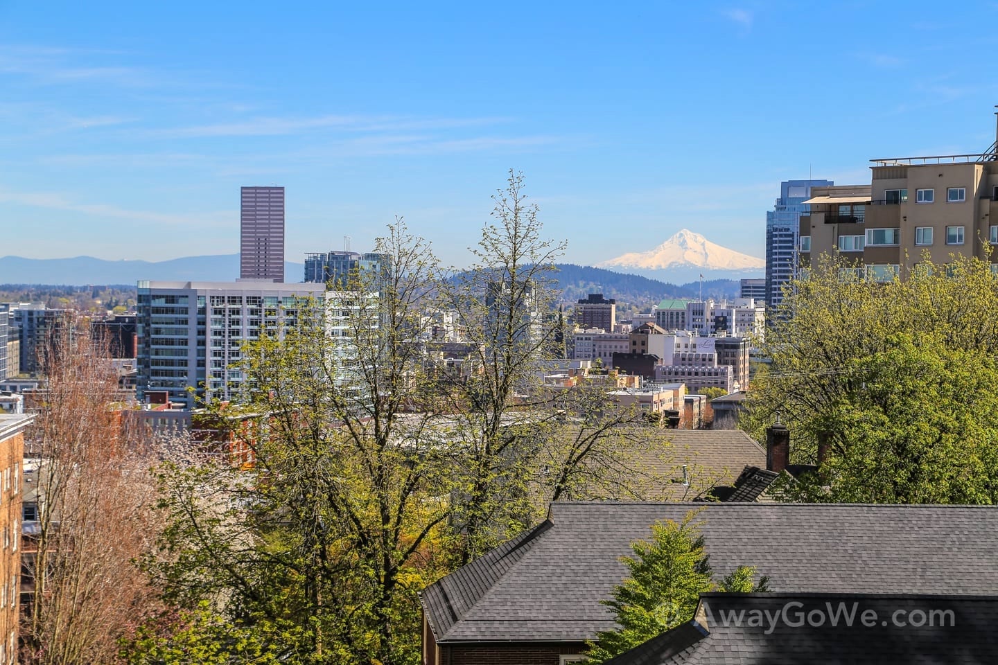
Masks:
[[[765,303],[775,308],[783,299],[783,285],[796,275],[801,213],[811,187],[831,186],[831,180],[784,180],[779,198],[765,213]]]

